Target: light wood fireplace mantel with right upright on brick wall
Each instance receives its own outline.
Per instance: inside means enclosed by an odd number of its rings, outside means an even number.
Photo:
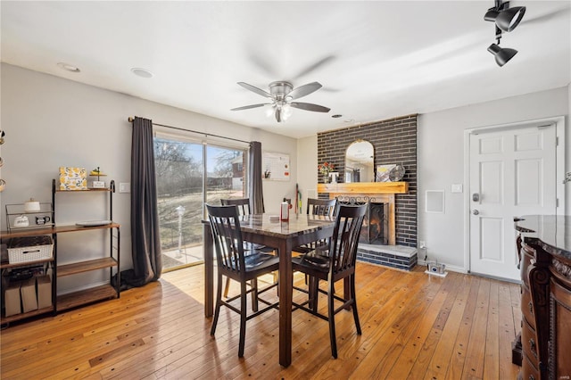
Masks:
[[[318,193],[329,194],[329,199],[338,196],[367,196],[389,205],[389,245],[396,244],[394,194],[409,193],[408,182],[354,182],[318,184]]]

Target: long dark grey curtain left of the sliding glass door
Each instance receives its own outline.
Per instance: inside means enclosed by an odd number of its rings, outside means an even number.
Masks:
[[[153,121],[135,117],[131,145],[132,276],[125,282],[142,286],[161,277],[161,239],[154,175]]]

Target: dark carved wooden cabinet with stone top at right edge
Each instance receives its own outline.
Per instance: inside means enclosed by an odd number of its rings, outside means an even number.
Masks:
[[[569,378],[571,217],[525,216],[516,229],[522,279],[519,377]]]

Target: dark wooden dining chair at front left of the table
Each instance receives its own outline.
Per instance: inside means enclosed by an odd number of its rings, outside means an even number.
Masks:
[[[244,255],[244,241],[240,230],[240,220],[236,205],[212,206],[206,205],[208,218],[211,222],[212,239],[214,241],[214,251],[218,262],[218,289],[216,292],[216,306],[214,318],[212,319],[211,335],[216,332],[216,325],[220,315],[220,307],[226,306],[228,309],[240,314],[240,340],[238,344],[238,357],[244,356],[244,343],[246,334],[246,321],[259,316],[270,309],[277,309],[278,302],[268,302],[260,298],[260,294],[268,291],[277,284],[272,284],[259,290],[257,281],[262,275],[277,271],[279,259],[276,256],[264,252],[250,252]],[[222,277],[226,276],[240,283],[240,294],[222,299]],[[252,287],[248,289],[246,283],[252,282]],[[246,295],[252,293],[254,302],[262,302],[267,306],[261,310],[254,311],[247,315]],[[236,308],[230,302],[240,299],[240,308]]]

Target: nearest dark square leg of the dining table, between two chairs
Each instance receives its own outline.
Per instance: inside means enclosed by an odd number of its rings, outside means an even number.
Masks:
[[[279,252],[279,364],[292,363],[292,242],[280,242]]]

